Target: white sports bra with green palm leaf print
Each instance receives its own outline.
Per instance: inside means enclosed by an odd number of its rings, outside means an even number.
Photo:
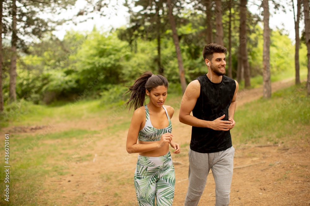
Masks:
[[[164,106],[162,106],[162,107],[166,111],[166,115],[167,115],[168,120],[169,120],[169,125],[168,125],[168,127],[162,128],[162,129],[156,129],[153,127],[151,120],[150,120],[150,115],[148,112],[148,106],[144,105],[144,107],[145,107],[145,113],[146,113],[146,122],[145,122],[144,128],[139,131],[139,136],[138,136],[139,141],[147,141],[147,142],[159,141],[160,138],[162,137],[162,134],[165,134],[167,132],[171,133],[171,131],[172,131],[171,120],[170,120],[168,112]]]

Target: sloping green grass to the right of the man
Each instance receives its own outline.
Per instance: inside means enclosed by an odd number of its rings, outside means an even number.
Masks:
[[[272,98],[245,104],[235,113],[238,130],[232,130],[238,143],[285,142],[306,138],[310,125],[310,97],[305,83],[278,90]]]

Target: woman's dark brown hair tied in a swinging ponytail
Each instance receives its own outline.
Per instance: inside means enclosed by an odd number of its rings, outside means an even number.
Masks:
[[[135,83],[132,86],[128,86],[128,92],[131,93],[130,98],[128,102],[126,102],[126,107],[129,104],[129,109],[131,107],[134,107],[134,109],[138,109],[139,107],[142,107],[145,103],[145,94],[146,89],[150,92],[157,86],[165,86],[168,88],[168,80],[166,77],[163,77],[162,75],[153,75],[152,72],[146,71],[143,74],[140,75],[139,78],[135,80]]]

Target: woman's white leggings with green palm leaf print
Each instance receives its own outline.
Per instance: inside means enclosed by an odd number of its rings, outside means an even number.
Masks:
[[[138,156],[135,191],[139,206],[171,206],[175,190],[175,170],[170,152],[160,157]]]

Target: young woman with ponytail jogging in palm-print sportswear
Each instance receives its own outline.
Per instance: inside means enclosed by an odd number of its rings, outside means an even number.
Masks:
[[[129,109],[134,107],[128,131],[128,153],[139,153],[134,183],[139,205],[172,205],[175,188],[175,171],[169,144],[180,153],[180,145],[171,134],[170,118],[174,109],[164,106],[168,81],[162,75],[144,72],[129,87]],[[144,104],[145,94],[150,102]],[[138,141],[138,142],[137,142]]]

